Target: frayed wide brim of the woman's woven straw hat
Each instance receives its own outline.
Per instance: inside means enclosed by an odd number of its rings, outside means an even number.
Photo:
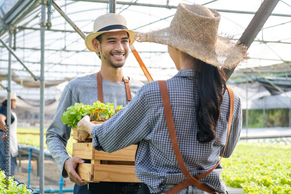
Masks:
[[[231,69],[240,62],[248,59],[247,47],[238,45],[230,37],[217,35],[215,44],[207,44],[191,39],[185,39],[175,34],[171,27],[136,35],[138,42],[155,42],[169,45],[183,51],[194,58],[216,67]]]

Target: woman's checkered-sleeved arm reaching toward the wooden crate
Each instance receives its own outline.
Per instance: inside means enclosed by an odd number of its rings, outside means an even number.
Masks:
[[[92,128],[93,146],[111,153],[139,142],[151,131],[149,105],[143,86],[132,101],[102,125]]]

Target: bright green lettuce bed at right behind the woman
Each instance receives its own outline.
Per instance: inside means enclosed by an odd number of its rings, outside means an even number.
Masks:
[[[226,185],[249,194],[291,194],[291,145],[239,142],[222,159]]]

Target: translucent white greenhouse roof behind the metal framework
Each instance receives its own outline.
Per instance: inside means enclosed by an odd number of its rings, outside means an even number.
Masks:
[[[55,2],[86,35],[93,31],[94,20],[109,12],[109,6],[106,3],[108,1],[104,0],[55,0]],[[178,3],[181,2],[203,4],[208,8],[218,10],[221,14],[218,33],[233,35],[234,39],[240,38],[262,3],[261,0],[123,0],[117,1],[116,13],[122,14],[127,19],[128,29],[147,32],[168,27],[176,12],[173,6],[178,6]],[[136,5],[126,5],[134,3]],[[149,4],[152,6],[145,6]],[[273,15],[269,17],[248,50],[251,59],[238,68],[248,67],[257,70],[263,66],[280,66],[283,63],[286,68],[281,68],[280,72],[274,71],[274,73],[290,72],[290,5],[290,1],[279,1],[272,13]],[[8,26],[15,27],[15,31],[12,31],[12,36],[16,37],[15,41],[14,38],[12,40],[14,52],[35,75],[39,76],[40,1],[0,0],[0,6],[1,39],[8,44]],[[52,9],[54,10],[53,7]],[[84,40],[78,33],[74,32],[74,29],[57,11],[54,12],[51,23],[51,30],[45,31],[45,79],[47,81],[70,80],[77,76],[99,71],[101,60],[94,52],[88,51]],[[177,73],[175,65],[167,53],[167,46],[138,42],[135,42],[134,46],[154,80],[169,79]],[[7,72],[7,69],[8,50],[0,45],[0,71]],[[12,69],[13,73],[23,79],[30,77],[30,74],[14,57],[12,57]],[[264,74],[272,73],[272,68],[269,69],[271,71],[264,71]],[[133,54],[129,54],[123,71],[129,77],[146,81]],[[237,75],[248,75],[248,71],[242,72]],[[236,73],[233,74],[233,77],[235,75]],[[62,90],[65,83],[45,90],[45,98],[53,98],[55,94],[59,94],[58,89]],[[3,80],[2,84],[6,86],[6,81]],[[38,89],[24,88],[16,82],[12,84],[12,91],[17,92],[17,95],[21,95],[23,98],[39,98],[39,95],[36,94]],[[6,91],[0,91],[0,96],[4,96],[5,93]]]

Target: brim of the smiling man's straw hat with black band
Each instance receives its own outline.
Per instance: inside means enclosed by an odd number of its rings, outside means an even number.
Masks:
[[[92,40],[95,39],[98,35],[106,33],[106,32],[117,32],[117,31],[126,31],[129,34],[129,40],[130,40],[130,44],[129,46],[131,46],[134,41],[135,41],[135,35],[139,32],[135,32],[135,31],[131,31],[131,30],[124,30],[124,29],[113,29],[113,30],[109,30],[109,31],[102,31],[102,32],[94,32],[91,34],[88,34],[85,38],[85,45],[87,47],[87,49],[89,51],[93,51],[93,52],[98,52],[96,51],[96,49],[93,47],[93,43]]]

